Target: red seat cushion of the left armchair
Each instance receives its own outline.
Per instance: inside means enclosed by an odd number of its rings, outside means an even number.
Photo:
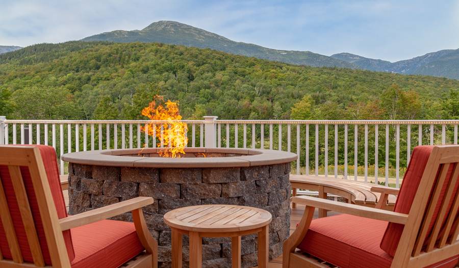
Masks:
[[[72,268],[115,268],[144,250],[133,223],[104,220],[71,229]]]

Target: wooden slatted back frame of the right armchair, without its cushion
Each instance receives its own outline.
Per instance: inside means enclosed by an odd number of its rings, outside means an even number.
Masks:
[[[394,263],[408,265],[410,261],[442,261],[438,249],[453,252],[452,239],[457,229],[459,146],[433,148],[422,175],[409,220],[403,229]],[[422,215],[422,216],[420,216]],[[456,235],[457,236],[457,235]],[[448,248],[449,247],[449,248]],[[453,248],[452,248],[453,247]],[[454,250],[452,250],[454,249]],[[452,250],[452,251],[451,251]],[[448,254],[447,254],[448,255]],[[450,254],[452,257],[454,254]],[[411,264],[410,264],[411,265]]]

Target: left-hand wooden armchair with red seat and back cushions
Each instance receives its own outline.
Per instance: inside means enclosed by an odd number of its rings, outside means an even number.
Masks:
[[[67,216],[56,152],[0,146],[0,267],[157,267],[139,197]],[[132,212],[134,223],[105,220]]]

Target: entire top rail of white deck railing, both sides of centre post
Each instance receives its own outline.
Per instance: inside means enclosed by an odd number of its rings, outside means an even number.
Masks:
[[[205,120],[14,120],[7,124],[163,124],[181,121],[203,124]],[[216,120],[217,124],[330,124],[330,125],[459,125],[459,120]]]

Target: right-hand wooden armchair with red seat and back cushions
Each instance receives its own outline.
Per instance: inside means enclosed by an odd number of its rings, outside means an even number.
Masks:
[[[398,194],[394,211],[294,197],[305,209],[284,243],[283,267],[455,267],[458,162],[457,145],[416,147],[400,191],[381,188]],[[315,208],[343,214],[312,220]]]

